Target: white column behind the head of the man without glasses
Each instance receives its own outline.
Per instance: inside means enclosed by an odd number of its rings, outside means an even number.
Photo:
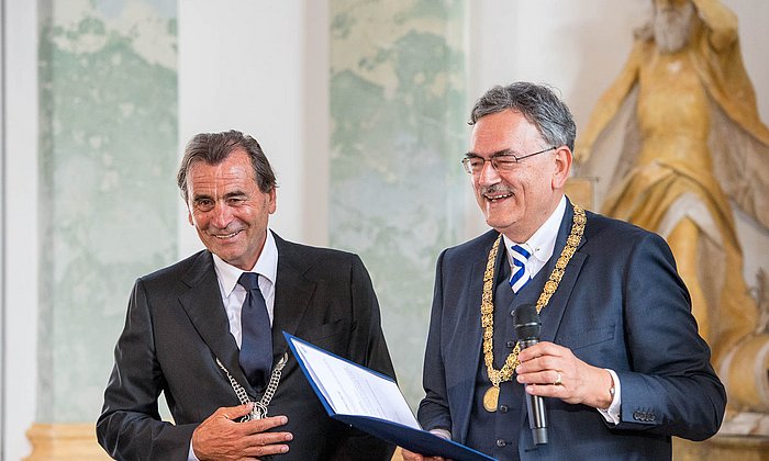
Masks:
[[[179,2],[179,150],[200,132],[238,130],[278,177],[270,227],[327,241],[327,1]],[[200,248],[180,204],[180,256]]]

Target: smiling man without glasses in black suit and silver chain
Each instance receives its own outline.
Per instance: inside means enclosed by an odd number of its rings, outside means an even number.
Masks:
[[[281,334],[394,376],[360,259],[268,229],[276,179],[250,136],[194,136],[178,185],[207,249],[136,281],[101,446],[120,460],[389,459],[393,447],[327,417]]]

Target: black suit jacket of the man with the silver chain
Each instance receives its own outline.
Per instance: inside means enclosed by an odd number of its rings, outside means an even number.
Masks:
[[[289,331],[341,357],[394,376],[368,272],[350,254],[288,243],[277,235],[274,358]],[[216,408],[239,405],[219,358],[252,398],[238,366],[212,255],[200,251],[140,278],[97,423],[102,447],[121,460],[186,460],[194,428]],[[175,424],[161,421],[165,393]],[[392,447],[331,419],[290,356],[269,415],[293,432],[281,460],[389,459]]]

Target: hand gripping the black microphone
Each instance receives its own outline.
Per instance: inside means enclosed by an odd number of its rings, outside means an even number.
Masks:
[[[612,403],[612,375],[581,361],[568,348],[539,342],[522,350],[519,359],[517,382],[535,384],[526,386],[528,394],[601,409]]]

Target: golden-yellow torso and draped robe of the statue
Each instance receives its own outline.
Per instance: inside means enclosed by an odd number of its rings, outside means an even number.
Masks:
[[[758,316],[729,199],[769,227],[769,128],[759,120],[738,41],[716,50],[704,32],[696,29],[671,55],[636,41],[617,79],[620,89],[623,79],[632,82],[622,110],[631,112],[602,211],[669,239],[701,334],[728,381],[729,356],[755,331]],[[605,135],[580,175],[605,161]]]

